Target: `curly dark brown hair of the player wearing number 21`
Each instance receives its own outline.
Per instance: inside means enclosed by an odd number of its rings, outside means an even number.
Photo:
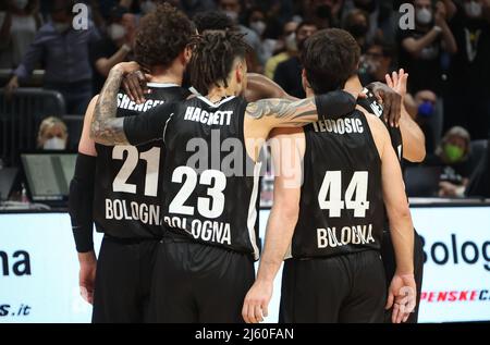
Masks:
[[[195,35],[191,20],[176,8],[162,3],[142,19],[135,40],[135,60],[145,69],[168,67]]]

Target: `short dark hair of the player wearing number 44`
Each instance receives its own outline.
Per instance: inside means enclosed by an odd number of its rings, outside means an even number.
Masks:
[[[356,74],[359,57],[359,45],[346,30],[328,28],[309,37],[302,51],[302,63],[314,93],[343,88]]]

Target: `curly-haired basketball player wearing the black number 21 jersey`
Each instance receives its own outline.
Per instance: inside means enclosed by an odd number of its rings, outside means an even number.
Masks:
[[[140,23],[135,58],[151,72],[151,94],[136,104],[117,93],[118,118],[139,113],[173,100],[186,99],[181,87],[189,60],[185,49],[195,29],[169,4],[159,5]],[[94,304],[94,322],[144,322],[155,250],[161,237],[158,181],[163,169],[161,140],[147,145],[102,146],[89,138],[96,96],[85,115],[75,175],[71,183],[70,214],[81,264],[81,292]],[[105,234],[97,261],[93,223]]]

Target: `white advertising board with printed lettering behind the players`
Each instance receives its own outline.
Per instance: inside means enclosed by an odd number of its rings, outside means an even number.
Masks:
[[[264,238],[269,211],[260,212]],[[415,208],[425,238],[420,322],[490,320],[490,207]],[[100,235],[96,236],[96,247]],[[281,276],[268,322],[277,322]],[[0,322],[89,322],[64,213],[0,214]]]

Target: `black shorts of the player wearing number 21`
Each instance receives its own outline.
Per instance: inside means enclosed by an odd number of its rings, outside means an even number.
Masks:
[[[97,260],[94,323],[148,320],[156,239],[125,241],[105,236]]]

